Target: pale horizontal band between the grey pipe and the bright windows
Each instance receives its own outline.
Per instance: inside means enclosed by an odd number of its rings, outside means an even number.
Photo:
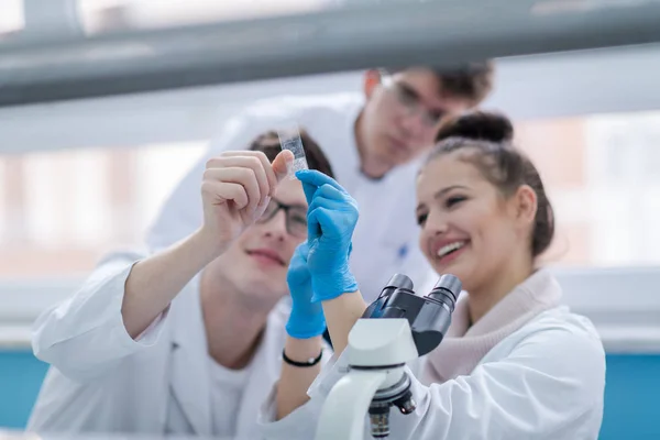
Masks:
[[[659,73],[660,45],[504,58],[484,107],[515,120],[660,109]],[[353,72],[0,108],[0,154],[206,141],[255,99],[361,87]]]

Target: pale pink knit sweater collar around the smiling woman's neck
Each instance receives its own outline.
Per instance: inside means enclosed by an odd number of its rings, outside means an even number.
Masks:
[[[539,270],[469,328],[468,294],[462,293],[440,346],[427,356],[421,382],[430,385],[468,375],[499,341],[540,312],[560,305],[561,287]]]

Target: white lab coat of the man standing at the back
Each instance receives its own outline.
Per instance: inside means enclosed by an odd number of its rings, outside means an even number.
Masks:
[[[321,146],[337,180],[360,206],[351,268],[365,299],[375,299],[395,273],[408,275],[418,288],[428,285],[433,273],[419,251],[415,218],[419,161],[396,167],[382,179],[366,178],[360,170],[354,135],[355,119],[363,105],[360,94],[333,94],[285,96],[248,107],[221,125],[209,151],[164,205],[147,243],[154,250],[163,249],[199,228],[202,222],[199,185],[209,157],[246,148],[264,131],[293,121]]]

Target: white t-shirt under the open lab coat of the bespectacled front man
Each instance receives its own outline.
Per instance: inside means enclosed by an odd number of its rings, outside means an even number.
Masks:
[[[242,370],[230,370],[209,356],[211,385],[211,418],[215,437],[230,437],[237,432],[238,414],[245,384],[250,377],[250,363]]]

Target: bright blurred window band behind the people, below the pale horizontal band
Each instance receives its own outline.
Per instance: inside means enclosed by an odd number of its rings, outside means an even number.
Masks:
[[[660,263],[660,112],[524,121],[554,206],[563,266]],[[206,143],[0,156],[0,277],[85,273],[141,244]]]

